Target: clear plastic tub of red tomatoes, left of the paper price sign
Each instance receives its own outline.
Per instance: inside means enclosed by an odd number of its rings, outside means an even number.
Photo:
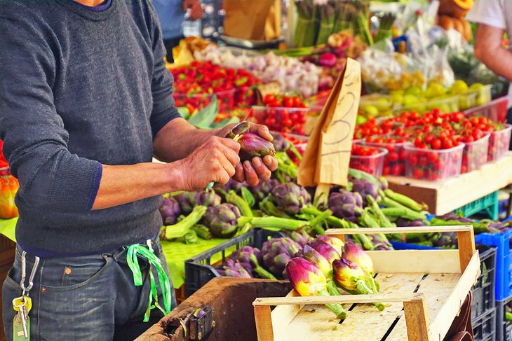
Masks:
[[[252,106],[248,120],[254,123],[267,125],[269,130],[305,135],[304,123],[308,108],[271,108],[267,106]]]

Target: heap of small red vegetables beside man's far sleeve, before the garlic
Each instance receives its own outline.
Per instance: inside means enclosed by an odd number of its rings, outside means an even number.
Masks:
[[[254,91],[252,87],[260,82],[245,69],[224,68],[211,62],[193,61],[170,71],[176,80],[175,105],[191,109],[208,106],[214,95],[219,101],[220,112],[250,106],[253,103],[250,99]]]

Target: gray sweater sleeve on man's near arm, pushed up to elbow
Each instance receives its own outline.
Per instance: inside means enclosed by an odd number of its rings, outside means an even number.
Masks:
[[[53,101],[57,65],[49,30],[36,18],[0,11],[0,139],[20,181],[20,209],[89,211],[102,167],[67,149],[69,134]]]

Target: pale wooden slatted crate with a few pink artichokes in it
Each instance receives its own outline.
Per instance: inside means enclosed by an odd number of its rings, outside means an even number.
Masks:
[[[443,340],[480,272],[473,228],[330,229],[328,235],[361,232],[457,232],[459,249],[368,251],[379,295],[303,298],[292,291],[284,298],[257,298],[258,340]],[[342,323],[323,306],[328,302],[344,305],[348,314]],[[384,311],[370,302],[383,302]]]

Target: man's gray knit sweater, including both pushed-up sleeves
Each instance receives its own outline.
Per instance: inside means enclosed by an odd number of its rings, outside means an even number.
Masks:
[[[0,0],[0,139],[27,251],[105,252],[159,232],[159,197],[91,210],[101,164],[151,162],[179,116],[159,26],[147,0]]]

